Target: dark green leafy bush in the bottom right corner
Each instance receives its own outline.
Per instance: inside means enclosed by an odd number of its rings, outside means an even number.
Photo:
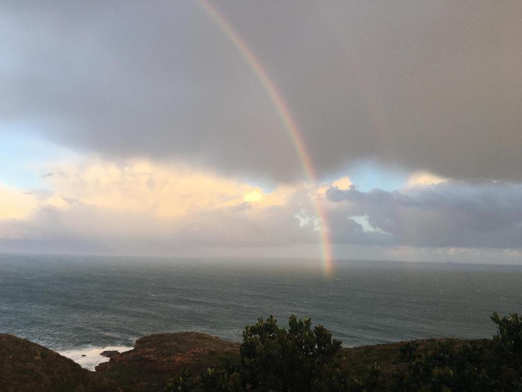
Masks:
[[[455,347],[438,342],[424,353],[406,343],[401,348],[407,372],[394,375],[394,392],[520,391],[522,390],[522,319],[511,314],[491,319],[498,331],[493,340]]]

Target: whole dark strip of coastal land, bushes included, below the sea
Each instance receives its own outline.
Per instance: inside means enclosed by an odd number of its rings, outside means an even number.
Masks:
[[[322,326],[273,317],[242,344],[196,332],[136,341],[97,372],[11,335],[0,335],[0,390],[74,392],[494,392],[522,391],[522,318],[491,317],[491,340],[428,339],[355,348]],[[177,374],[174,377],[169,376]]]

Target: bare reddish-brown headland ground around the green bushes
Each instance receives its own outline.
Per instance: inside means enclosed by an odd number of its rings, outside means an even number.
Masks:
[[[417,341],[421,349],[435,347],[437,339]],[[468,340],[455,341],[457,344]],[[374,362],[383,377],[407,364],[400,359],[401,343],[378,344],[340,351],[344,366],[357,374]],[[197,375],[222,354],[239,357],[239,343],[197,332],[161,333],[138,339],[133,350],[108,352],[109,361],[96,372],[45,347],[13,335],[0,335],[0,388],[5,392],[160,392],[168,378],[188,368]]]

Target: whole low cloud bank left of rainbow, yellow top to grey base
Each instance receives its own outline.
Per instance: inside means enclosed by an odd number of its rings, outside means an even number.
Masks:
[[[300,225],[295,216],[313,211],[305,185],[265,192],[239,180],[144,159],[88,157],[52,169],[61,172],[46,178],[52,192],[0,192],[0,200],[4,194],[6,200],[14,194],[32,200],[23,214],[13,215],[13,199],[6,209],[11,215],[0,215],[1,248],[175,254],[186,247],[196,253],[198,247],[277,248],[317,244],[319,238],[314,222]]]

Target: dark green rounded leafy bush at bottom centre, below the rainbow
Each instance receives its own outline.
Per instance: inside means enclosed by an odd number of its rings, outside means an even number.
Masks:
[[[339,366],[341,342],[323,326],[294,315],[288,330],[270,316],[246,326],[240,362],[223,357],[194,383],[187,373],[169,380],[165,391],[313,391],[371,392],[382,390],[380,368],[370,366],[361,380]]]

